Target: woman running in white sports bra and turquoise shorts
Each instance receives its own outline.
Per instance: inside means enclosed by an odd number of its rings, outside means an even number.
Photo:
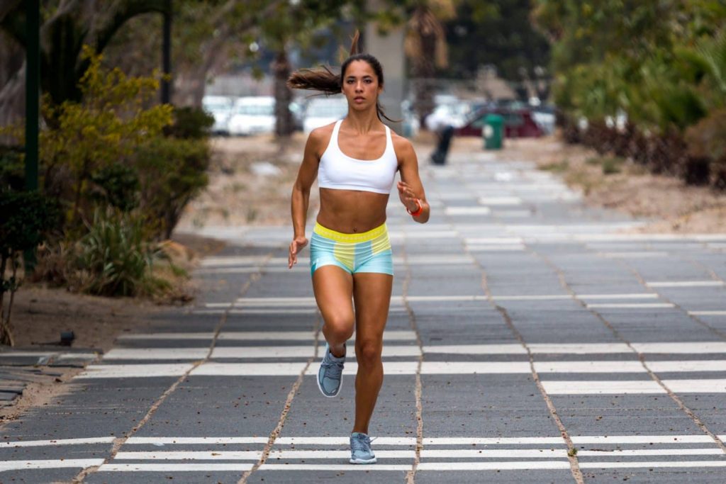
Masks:
[[[313,291],[324,321],[327,342],[317,383],[326,397],[335,397],[343,383],[346,341],[355,329],[356,417],[351,433],[351,464],[373,464],[368,424],[383,383],[383,329],[393,285],[393,254],[386,229],[386,205],[396,172],[401,203],[420,223],[428,221],[429,205],[418,174],[411,143],[391,132],[378,104],[383,69],[370,54],[358,54],[358,33],[351,55],[330,70],[298,70],[288,84],[345,95],[348,115],[311,132],[293,186],[293,242],[288,266],[308,243],[305,237],[310,189],[316,176],[320,210],[310,241]]]

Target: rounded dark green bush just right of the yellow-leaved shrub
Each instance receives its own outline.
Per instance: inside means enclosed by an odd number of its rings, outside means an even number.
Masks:
[[[158,223],[157,236],[168,239],[184,207],[208,183],[210,152],[206,140],[158,138],[140,145],[134,164],[141,184],[140,210]]]

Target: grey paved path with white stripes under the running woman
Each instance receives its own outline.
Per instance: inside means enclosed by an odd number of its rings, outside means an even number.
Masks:
[[[723,483],[726,234],[616,234],[639,222],[484,152],[423,176],[431,222],[389,210],[379,464],[346,464],[354,358],[338,398],[314,382],[290,229],[216,229],[197,306],[6,424],[1,482]]]

